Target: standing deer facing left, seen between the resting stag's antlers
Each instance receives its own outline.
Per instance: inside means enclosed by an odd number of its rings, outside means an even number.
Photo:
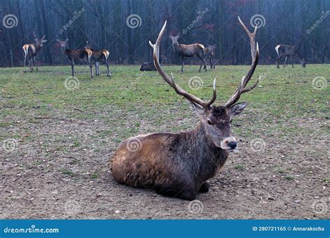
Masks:
[[[182,65],[181,65],[181,72],[183,72],[183,65],[184,65],[184,58],[185,57],[194,57],[197,56],[204,65],[204,70],[205,72],[207,71],[206,69],[206,61],[204,61],[204,59],[202,58],[204,50],[205,50],[205,46],[202,44],[192,44],[192,45],[183,45],[183,44],[179,44],[178,39],[180,38],[180,34],[178,35],[170,35],[170,39],[172,40],[172,45],[173,45],[173,49],[175,52],[178,53],[179,56],[181,56],[182,59]],[[201,72],[201,68],[199,68],[199,72]]]

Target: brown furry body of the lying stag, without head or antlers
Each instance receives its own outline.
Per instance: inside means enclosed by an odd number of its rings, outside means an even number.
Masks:
[[[133,141],[139,141],[138,151],[129,149]],[[116,151],[111,170],[122,184],[193,200],[227,158],[228,152],[214,145],[199,123],[191,132],[128,138]]]

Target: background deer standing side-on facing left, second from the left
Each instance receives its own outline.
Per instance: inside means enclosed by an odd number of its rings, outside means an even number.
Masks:
[[[87,63],[89,68],[91,69],[91,78],[93,78],[93,66],[91,63],[91,57],[93,53],[91,49],[67,49],[69,41],[68,39],[66,39],[65,41],[58,39],[56,40],[60,43],[63,54],[71,64],[72,77],[74,77],[74,62],[83,61],[84,63]]]

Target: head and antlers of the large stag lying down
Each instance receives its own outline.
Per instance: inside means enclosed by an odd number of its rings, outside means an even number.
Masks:
[[[253,84],[253,86],[251,86],[250,88],[245,88],[246,85],[249,83],[253,72],[258,64],[258,43],[256,46],[256,57],[254,58],[253,64],[251,65],[251,69],[249,70],[248,74],[246,74],[246,76],[242,78],[238,88],[235,90],[235,93],[233,93],[233,95],[230,97],[228,102],[226,102],[226,104],[223,104],[221,106],[214,106],[212,104],[217,99],[216,79],[214,79],[213,81],[212,98],[211,100],[205,102],[180,88],[180,86],[175,84],[173,74],[171,74],[171,77],[168,77],[166,72],[164,72],[164,70],[162,69],[161,65],[159,64],[159,45],[162,41],[165,27],[166,22],[158,35],[155,45],[152,45],[152,43],[149,41],[150,46],[153,48],[153,58],[157,71],[163,77],[166,83],[171,86],[176,93],[178,93],[178,95],[182,95],[183,97],[185,97],[189,104],[191,104],[191,108],[201,118],[201,122],[203,128],[205,129],[205,135],[207,136],[207,138],[212,141],[212,143],[218,148],[229,152],[235,150],[235,148],[237,147],[237,141],[230,131],[230,120],[233,116],[239,115],[239,113],[241,113],[247,105],[246,102],[237,103],[239,97],[243,93],[249,92],[253,88],[256,88],[259,82],[258,80],[256,84]]]

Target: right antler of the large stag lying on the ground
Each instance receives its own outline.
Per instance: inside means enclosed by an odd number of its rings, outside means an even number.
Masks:
[[[239,17],[238,17],[238,19],[239,19]],[[241,21],[241,19],[239,19],[239,22],[242,24],[244,30],[246,31],[246,33],[248,33],[249,38],[250,38],[252,65],[251,65],[251,69],[249,70],[248,74],[246,74],[246,76],[244,76],[242,78],[242,81],[239,84],[238,88],[235,90],[235,93],[233,93],[233,95],[230,97],[230,100],[228,100],[228,102],[226,102],[226,104],[224,105],[226,107],[235,104],[235,102],[237,102],[239,100],[239,97],[241,97],[242,93],[247,93],[247,92],[251,91],[253,88],[256,88],[256,86],[259,83],[259,79],[260,79],[259,78],[256,81],[256,84],[253,84],[253,86],[251,86],[249,88],[245,88],[246,84],[249,83],[249,81],[253,75],[253,72],[254,72],[254,70],[256,70],[256,67],[258,65],[259,47],[258,47],[258,43],[256,44],[256,40],[255,40],[257,27],[254,29],[253,33],[251,33],[248,29],[246,29],[246,26]]]

